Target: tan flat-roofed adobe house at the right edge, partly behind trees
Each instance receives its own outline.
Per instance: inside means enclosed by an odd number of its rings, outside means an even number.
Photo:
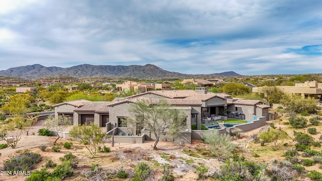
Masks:
[[[312,97],[319,101],[322,97],[322,83],[317,81],[305,81],[304,83],[295,83],[295,86],[276,86],[284,93],[291,95],[301,95],[303,98]],[[262,93],[261,87],[253,87],[253,93]]]

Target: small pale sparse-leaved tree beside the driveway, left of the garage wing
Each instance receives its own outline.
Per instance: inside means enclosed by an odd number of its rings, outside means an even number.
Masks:
[[[55,143],[60,138],[59,134],[62,134],[62,132],[71,125],[71,120],[66,115],[59,115],[57,118],[53,116],[48,116],[46,122],[44,123],[44,126],[49,129],[50,131],[57,134],[58,138],[55,140]]]

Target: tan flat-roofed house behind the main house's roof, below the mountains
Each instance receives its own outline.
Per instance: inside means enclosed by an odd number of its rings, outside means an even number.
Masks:
[[[116,84],[119,91],[135,91],[137,93],[144,93],[150,90],[161,89],[171,90],[171,83],[143,83],[135,81],[125,81],[123,84]]]

